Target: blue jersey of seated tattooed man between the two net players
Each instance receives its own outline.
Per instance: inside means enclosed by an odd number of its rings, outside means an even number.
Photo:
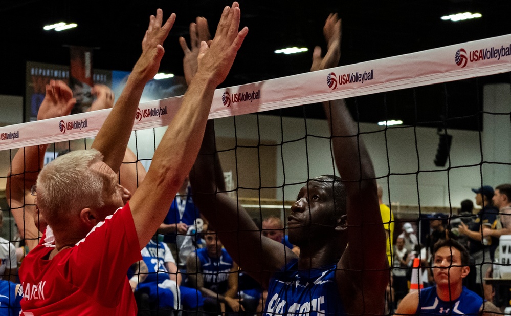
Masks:
[[[204,278],[204,287],[224,294],[228,289],[229,274],[233,267],[231,256],[226,249],[222,249],[219,258],[210,258],[206,248],[197,250],[197,258],[201,262],[201,271]]]

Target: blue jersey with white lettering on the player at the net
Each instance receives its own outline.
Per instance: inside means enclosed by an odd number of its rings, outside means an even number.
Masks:
[[[335,279],[337,264],[298,270],[298,259],[270,279],[264,316],[344,315]]]

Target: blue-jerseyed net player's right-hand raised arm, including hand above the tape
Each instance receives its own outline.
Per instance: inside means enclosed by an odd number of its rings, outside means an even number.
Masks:
[[[336,67],[339,64],[341,20],[331,14],[323,29],[328,52],[321,58],[321,49],[314,51],[312,70]],[[364,292],[360,305],[365,312],[381,312],[385,288],[389,282],[386,238],[383,228],[374,167],[358,125],[353,121],[344,100],[323,103],[332,133],[332,149],[347,192],[348,246],[339,261],[336,277],[345,291],[345,298],[356,298],[356,291]],[[348,270],[346,270],[348,269]],[[353,270],[362,270],[353,273]],[[380,296],[381,295],[381,296]],[[381,297],[382,300],[374,298]],[[371,299],[369,299],[371,298]],[[381,302],[380,302],[381,301]]]

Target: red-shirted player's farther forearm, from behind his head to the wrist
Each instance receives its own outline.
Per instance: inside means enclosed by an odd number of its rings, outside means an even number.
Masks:
[[[103,154],[103,161],[115,172],[124,158],[139,100],[147,83],[140,77],[136,70],[129,75],[124,90],[92,144],[92,148]]]

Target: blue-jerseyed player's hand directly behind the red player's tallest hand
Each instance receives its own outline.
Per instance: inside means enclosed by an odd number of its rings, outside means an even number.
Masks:
[[[208,21],[204,17],[197,17],[195,23],[190,23],[190,48],[186,44],[184,37],[179,38],[179,44],[185,53],[183,57],[183,70],[185,72],[186,83],[190,85],[193,76],[197,73],[197,56],[201,49],[201,43],[211,43],[211,34],[209,33]]]

